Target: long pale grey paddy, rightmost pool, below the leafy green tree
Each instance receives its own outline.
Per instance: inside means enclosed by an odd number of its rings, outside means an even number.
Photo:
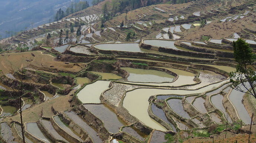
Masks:
[[[241,89],[244,91],[246,90],[243,87],[241,87]],[[233,103],[234,107],[236,108],[239,118],[245,124],[250,124],[251,117],[242,103],[243,95],[244,95],[244,93],[232,89],[232,91],[229,95],[229,99]]]

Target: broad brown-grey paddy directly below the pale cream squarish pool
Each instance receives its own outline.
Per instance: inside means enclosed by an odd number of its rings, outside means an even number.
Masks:
[[[119,118],[112,109],[104,104],[85,104],[83,106],[104,122],[104,126],[111,133],[117,133],[119,127],[126,126],[124,121]]]

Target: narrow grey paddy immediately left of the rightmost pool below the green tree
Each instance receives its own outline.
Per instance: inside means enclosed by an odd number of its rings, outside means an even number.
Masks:
[[[223,100],[223,96],[220,94],[211,96],[211,103],[213,103],[213,105],[221,110],[224,113],[225,118],[228,118],[228,122],[232,122],[229,114],[226,112],[226,109],[224,108],[223,104],[222,104],[222,100]]]

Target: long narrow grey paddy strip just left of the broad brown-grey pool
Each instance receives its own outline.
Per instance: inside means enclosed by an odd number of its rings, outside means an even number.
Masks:
[[[100,143],[102,142],[101,138],[97,136],[97,132],[92,129],[86,122],[83,121],[78,115],[76,115],[75,112],[65,112],[66,115],[69,116],[70,119],[72,119],[78,126],[80,126],[82,129],[88,133],[88,135],[92,138],[92,142],[94,143]]]

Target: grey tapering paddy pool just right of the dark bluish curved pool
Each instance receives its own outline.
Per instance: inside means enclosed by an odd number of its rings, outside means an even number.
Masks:
[[[181,99],[170,99],[167,101],[170,108],[176,112],[178,115],[180,115],[183,118],[189,119],[190,116],[188,113],[183,109],[183,105],[181,102]]]

